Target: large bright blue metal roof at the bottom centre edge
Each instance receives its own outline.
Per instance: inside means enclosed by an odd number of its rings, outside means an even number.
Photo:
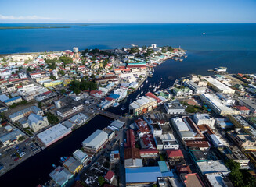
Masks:
[[[157,177],[162,177],[158,166],[125,168],[125,175],[127,183],[157,182]]]

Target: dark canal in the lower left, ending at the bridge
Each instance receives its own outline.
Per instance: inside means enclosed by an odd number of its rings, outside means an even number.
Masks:
[[[97,115],[90,122],[76,129],[69,136],[49,146],[40,153],[23,161],[13,170],[2,175],[0,178],[1,187],[26,186],[35,187],[38,184],[45,184],[53,170],[52,164],[60,165],[60,157],[70,156],[81,148],[81,142],[90,136],[96,129],[103,129],[110,125],[111,119]]]

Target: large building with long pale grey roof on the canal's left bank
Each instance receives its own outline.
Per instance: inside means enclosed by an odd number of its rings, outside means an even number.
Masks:
[[[45,146],[50,146],[59,141],[59,139],[62,139],[64,136],[69,135],[71,132],[71,129],[68,129],[59,123],[43,132],[40,132],[37,136]]]

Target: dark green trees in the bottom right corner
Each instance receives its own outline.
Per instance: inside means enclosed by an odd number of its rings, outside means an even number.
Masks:
[[[256,178],[248,171],[240,170],[240,163],[231,159],[225,161],[225,165],[230,169],[229,179],[235,187],[256,186]]]

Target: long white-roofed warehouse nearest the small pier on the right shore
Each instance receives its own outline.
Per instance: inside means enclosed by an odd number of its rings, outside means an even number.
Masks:
[[[204,77],[204,79],[206,79],[209,86],[211,86],[214,90],[216,90],[219,93],[235,94],[236,90],[233,90],[229,86],[226,86],[224,83],[212,78],[211,76]]]

